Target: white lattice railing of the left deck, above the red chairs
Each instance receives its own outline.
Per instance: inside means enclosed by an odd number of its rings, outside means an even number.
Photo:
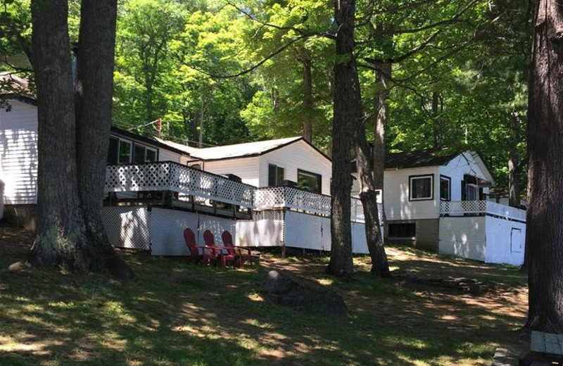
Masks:
[[[248,208],[255,187],[172,161],[108,165],[106,192],[175,191]]]

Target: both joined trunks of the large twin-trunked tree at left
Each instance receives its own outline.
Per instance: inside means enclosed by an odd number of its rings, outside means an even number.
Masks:
[[[39,225],[30,262],[74,271],[110,270],[131,277],[132,271],[108,244],[101,224],[116,6],[115,0],[82,1],[83,48],[74,94],[68,1],[32,1]]]

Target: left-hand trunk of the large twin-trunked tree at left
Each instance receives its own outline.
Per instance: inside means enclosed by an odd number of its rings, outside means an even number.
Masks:
[[[39,125],[35,265],[82,270],[86,245],[77,187],[75,101],[66,0],[33,0],[32,58]]]

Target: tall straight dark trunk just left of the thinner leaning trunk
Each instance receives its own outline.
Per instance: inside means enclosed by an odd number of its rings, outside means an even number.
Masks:
[[[334,117],[332,120],[331,253],[327,272],[350,279],[353,274],[350,191],[350,153],[360,95],[353,58],[355,0],[335,0],[336,57],[334,64]]]

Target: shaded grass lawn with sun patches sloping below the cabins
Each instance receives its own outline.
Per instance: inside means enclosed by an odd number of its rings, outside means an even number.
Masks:
[[[526,276],[413,249],[388,248],[395,276],[376,279],[355,258],[355,280],[323,274],[328,258],[262,255],[258,268],[220,269],[124,253],[139,279],[27,269],[31,236],[0,228],[0,365],[490,365],[497,346],[527,351]],[[347,318],[263,301],[279,267],[334,286]],[[471,277],[472,296],[419,277]]]

